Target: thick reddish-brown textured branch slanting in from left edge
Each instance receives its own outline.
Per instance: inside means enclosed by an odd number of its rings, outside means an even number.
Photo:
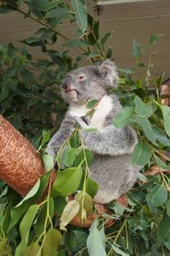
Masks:
[[[0,115],[0,179],[26,196],[44,173],[36,149]]]

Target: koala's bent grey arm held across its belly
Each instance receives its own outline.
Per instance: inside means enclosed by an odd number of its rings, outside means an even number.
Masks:
[[[132,154],[137,143],[137,135],[130,126],[117,129],[111,124],[102,132],[81,131],[81,136],[85,147],[100,155]]]

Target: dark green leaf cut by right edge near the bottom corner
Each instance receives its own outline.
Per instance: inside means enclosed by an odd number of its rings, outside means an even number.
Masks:
[[[165,239],[165,235],[169,229],[170,229],[170,216],[168,216],[165,212],[163,220],[161,221],[157,229],[158,246],[160,246],[163,240]]]

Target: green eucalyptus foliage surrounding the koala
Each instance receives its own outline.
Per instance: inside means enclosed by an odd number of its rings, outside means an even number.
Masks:
[[[28,7],[26,14],[21,8],[24,3]],[[128,207],[114,201],[107,206],[113,210],[111,216],[103,214],[101,220],[95,219],[90,230],[76,228],[68,226],[70,220],[76,215],[81,221],[87,219],[93,211],[92,197],[98,189],[88,177],[92,155],[84,149],[79,127],[75,127],[57,155],[58,178],[52,186],[49,176],[54,163],[43,152],[49,133],[42,130],[56,125],[51,113],[58,113],[57,123],[62,118],[65,105],[59,99],[58,85],[69,69],[76,68],[81,58],[90,64],[112,58],[112,49],[107,48],[112,32],[100,35],[100,21],[87,13],[83,0],[71,0],[70,5],[62,0],[6,0],[0,8],[1,13],[12,10],[36,20],[42,27],[33,37],[24,40],[21,49],[12,44],[0,45],[1,113],[32,139],[41,151],[47,174],[22,200],[4,182],[0,183],[0,254],[12,255],[11,251],[15,251],[16,256],[52,256],[58,251],[59,256],[168,255],[170,177],[165,172],[169,169],[165,151],[170,148],[170,111],[161,102],[163,75],[152,78],[153,57],[143,63],[144,52],[152,48],[161,35],[152,35],[145,48],[133,39],[134,67],[120,69],[120,87],[111,91],[124,106],[113,124],[122,127],[130,123],[139,135],[133,163],[142,166],[142,174],[127,195]],[[78,25],[74,40],[59,31],[59,25],[66,20]],[[58,38],[64,40],[63,53],[56,50]],[[34,59],[26,45],[41,48],[47,59]],[[66,48],[78,52],[75,63]],[[140,76],[138,70],[142,73]],[[93,105],[94,102],[89,107]],[[145,177],[152,165],[159,165],[162,170],[155,176]],[[42,199],[45,189],[48,196]],[[77,189],[80,193],[68,203],[68,196]],[[104,229],[106,218],[116,219],[108,229]]]

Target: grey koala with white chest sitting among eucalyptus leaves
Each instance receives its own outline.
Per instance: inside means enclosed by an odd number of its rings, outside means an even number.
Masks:
[[[131,157],[137,135],[131,126],[118,129],[113,126],[113,117],[122,110],[116,95],[108,90],[118,86],[118,73],[111,60],[100,66],[75,69],[66,76],[61,85],[61,95],[69,103],[69,109],[56,134],[46,148],[48,155],[55,156],[75,127],[79,124],[80,135],[86,149],[93,155],[90,177],[99,190],[94,202],[108,204],[133,187],[139,166],[132,165]],[[92,118],[84,118],[90,110],[89,101],[98,100]],[[95,128],[88,132],[88,128]]]

